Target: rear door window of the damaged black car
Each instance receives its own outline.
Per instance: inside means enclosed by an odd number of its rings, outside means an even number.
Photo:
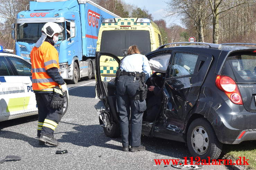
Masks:
[[[171,77],[186,76],[195,73],[198,55],[175,53],[171,66]]]

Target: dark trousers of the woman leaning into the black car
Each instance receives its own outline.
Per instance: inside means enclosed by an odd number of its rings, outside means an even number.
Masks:
[[[138,89],[139,80],[134,82],[134,76],[120,76],[117,80],[116,101],[120,116],[122,144],[125,147],[129,145],[138,147],[141,145],[141,125],[143,111],[146,110],[146,102],[145,100],[134,100]]]

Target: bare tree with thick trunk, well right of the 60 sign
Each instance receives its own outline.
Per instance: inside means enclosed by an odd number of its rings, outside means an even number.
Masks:
[[[245,4],[246,0],[209,0],[212,12],[213,43],[219,43],[219,17],[235,7]]]

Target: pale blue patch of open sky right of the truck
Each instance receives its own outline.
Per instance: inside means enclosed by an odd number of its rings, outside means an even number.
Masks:
[[[142,9],[147,9],[149,13],[152,14],[154,20],[164,19],[167,23],[167,26],[171,23],[176,23],[181,25],[180,20],[175,17],[167,17],[164,18],[166,15],[165,8],[167,0],[123,0],[126,3],[134,4]]]

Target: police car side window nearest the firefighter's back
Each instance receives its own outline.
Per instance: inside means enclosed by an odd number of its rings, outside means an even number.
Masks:
[[[15,69],[17,70],[18,76],[31,76],[31,65],[19,58],[10,57],[9,58]]]

